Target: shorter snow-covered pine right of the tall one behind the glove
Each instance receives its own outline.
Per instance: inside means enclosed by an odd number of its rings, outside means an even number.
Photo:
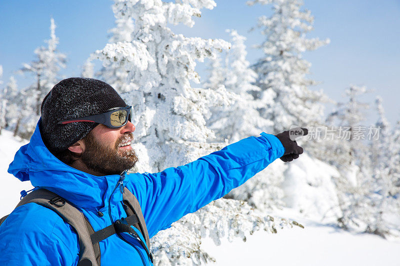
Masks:
[[[373,179],[370,149],[365,143],[367,127],[361,122],[369,105],[359,101],[367,92],[365,87],[350,86],[345,90],[348,102],[338,103],[337,109],[327,118],[327,124],[335,124],[334,141],[326,146],[325,158],[335,166],[340,177],[335,180],[339,208],[342,216],[338,224],[344,229],[365,231],[374,217]]]

